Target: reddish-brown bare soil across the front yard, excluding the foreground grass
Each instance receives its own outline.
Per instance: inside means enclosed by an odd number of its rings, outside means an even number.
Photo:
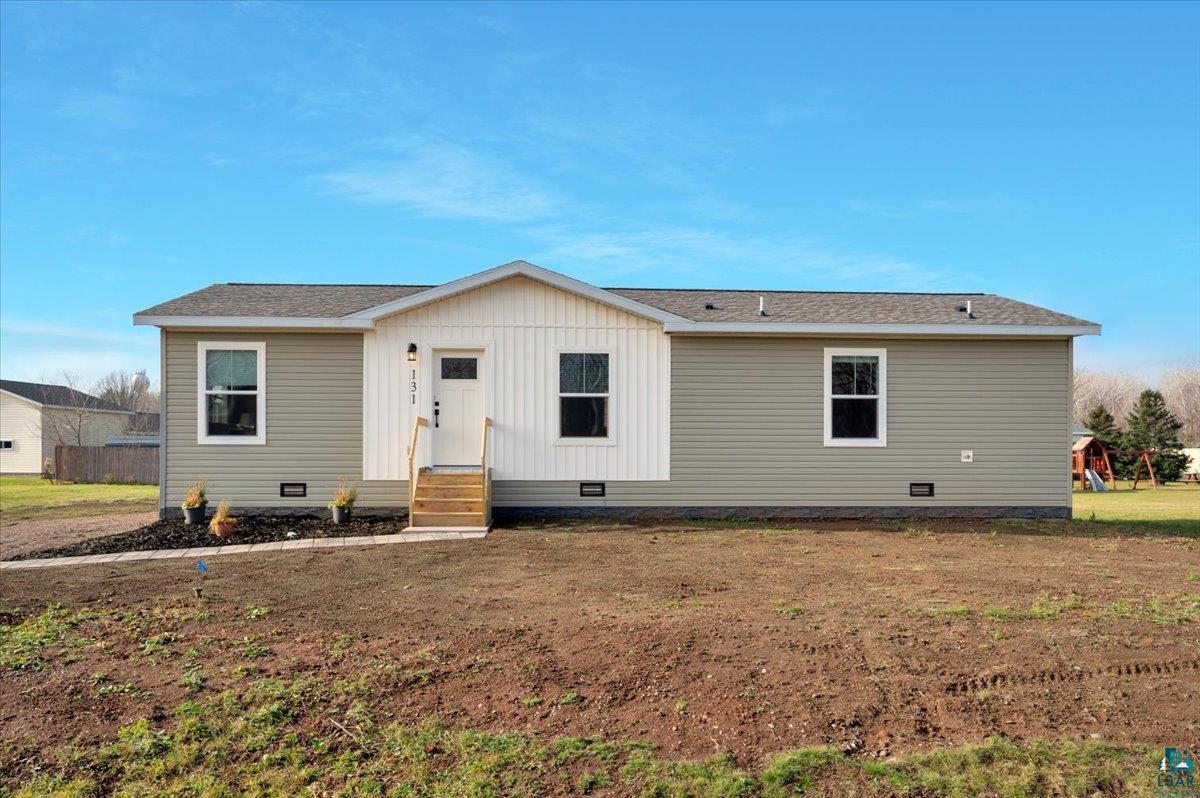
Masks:
[[[677,757],[888,756],[996,733],[1195,750],[1200,541],[1038,528],[499,529],[222,557],[200,600],[191,562],[7,571],[11,619],[50,602],[127,619],[78,661],[4,674],[0,738],[19,744],[0,769],[161,714],[191,695],[180,679],[197,664],[210,692],[353,677],[380,658],[414,674],[372,697],[394,720],[642,739]],[[148,653],[168,629],[168,650]],[[247,660],[247,640],[269,653]],[[98,672],[137,692],[97,698]]]

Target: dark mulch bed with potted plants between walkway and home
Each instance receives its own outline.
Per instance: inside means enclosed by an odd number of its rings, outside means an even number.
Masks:
[[[390,535],[408,526],[403,516],[361,516],[348,523],[334,524],[329,516],[264,515],[242,516],[233,534],[224,540],[209,532],[208,524],[192,526],[182,518],[163,518],[144,527],[106,538],[94,538],[70,546],[26,552],[11,559],[43,557],[79,557],[84,554],[116,554],[127,551],[156,548],[194,548],[200,546],[234,546],[239,544],[270,544],[277,540],[304,538],[355,538],[358,535]],[[294,533],[288,536],[288,533]]]

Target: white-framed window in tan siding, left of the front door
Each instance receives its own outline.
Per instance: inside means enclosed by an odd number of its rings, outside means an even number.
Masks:
[[[198,344],[199,443],[266,443],[266,344]]]

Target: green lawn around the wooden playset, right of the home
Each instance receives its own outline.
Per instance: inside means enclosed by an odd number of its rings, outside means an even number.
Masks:
[[[1116,491],[1075,491],[1075,518],[1144,532],[1200,536],[1200,487],[1164,485],[1157,491],[1146,482],[1136,491],[1117,480]]]

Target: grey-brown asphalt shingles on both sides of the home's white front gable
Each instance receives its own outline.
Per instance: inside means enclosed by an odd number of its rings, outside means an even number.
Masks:
[[[218,283],[139,316],[331,318],[412,296],[433,286]],[[607,288],[692,322],[842,324],[1092,324],[996,294]],[[758,298],[767,316],[758,316]],[[971,301],[973,318],[958,311]],[[706,307],[712,305],[712,308]]]

